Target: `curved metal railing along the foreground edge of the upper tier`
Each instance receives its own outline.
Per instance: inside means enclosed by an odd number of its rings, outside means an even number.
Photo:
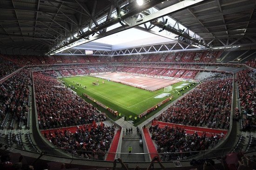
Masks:
[[[5,137],[0,137],[0,143],[3,144],[6,149],[18,149],[18,150],[25,150],[28,152],[38,153],[37,150],[33,148],[40,148],[40,150],[51,150],[49,153],[45,153],[45,155],[50,155],[54,157],[64,157],[70,159],[81,159],[81,160],[99,160],[99,161],[106,161],[106,158],[109,154],[114,154],[115,156],[121,157],[123,161],[126,162],[145,162],[145,157],[155,157],[158,155],[162,162],[168,161],[190,161],[192,159],[206,159],[206,158],[216,158],[222,157],[226,154],[230,153],[230,150],[233,150],[234,147],[229,148],[220,148],[214,150],[201,150],[201,151],[188,151],[188,152],[166,152],[166,153],[113,153],[113,152],[96,152],[96,151],[86,151],[86,150],[71,150],[71,149],[63,149],[57,147],[45,147],[39,146],[36,144],[31,143],[21,143],[18,145],[14,142],[13,145],[7,144],[7,139]],[[34,145],[34,147],[32,146]],[[240,151],[245,151],[248,148],[248,144],[241,146]],[[256,151],[255,148],[251,148],[249,152]],[[62,155],[60,156],[60,153]],[[109,160],[113,161],[113,160]],[[146,161],[147,162],[147,161]]]

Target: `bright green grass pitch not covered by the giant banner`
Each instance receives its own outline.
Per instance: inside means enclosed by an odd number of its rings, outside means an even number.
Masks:
[[[78,87],[76,83],[79,83],[79,88],[77,88],[77,90],[74,90],[75,92],[77,92],[79,96],[82,96],[82,93],[86,93],[88,96],[94,98],[95,100],[101,102],[102,104],[108,106],[109,108],[120,112],[122,116],[126,115],[127,117],[129,115],[132,115],[134,118],[135,116],[138,116],[142,112],[148,110],[149,108],[153,107],[154,105],[157,105],[164,99],[168,98],[168,97],[154,98],[155,96],[164,92],[164,89],[160,89],[155,92],[150,92],[150,91],[143,90],[143,89],[136,88],[129,85],[123,85],[123,84],[112,82],[112,81],[108,82],[107,80],[104,80],[101,78],[79,76],[79,77],[61,78],[61,80],[64,81],[67,86],[73,85],[75,87]],[[96,80],[99,80],[99,86],[91,85],[92,82],[96,82]],[[104,80],[104,83],[105,83],[104,85],[102,84],[102,80]],[[181,81],[181,82],[175,83],[172,86],[176,87],[183,83],[185,82]],[[87,87],[86,89],[82,89],[82,86],[84,85]],[[191,88],[186,89],[184,92],[190,89]],[[176,89],[176,90],[182,90],[182,89]],[[175,91],[175,89],[173,89],[173,91]],[[177,92],[175,93],[170,92],[170,93],[174,95],[173,99],[176,99],[179,97]],[[182,95],[182,92],[180,95]],[[106,112],[106,110],[104,112]],[[115,119],[113,115],[108,114],[108,116],[110,116],[110,118],[112,119]]]

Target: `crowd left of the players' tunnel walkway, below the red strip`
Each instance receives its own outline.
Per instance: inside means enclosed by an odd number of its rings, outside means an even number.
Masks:
[[[77,126],[72,133],[69,130],[52,130],[43,134],[52,144],[82,158],[104,160],[105,153],[115,136],[115,126],[103,123]]]

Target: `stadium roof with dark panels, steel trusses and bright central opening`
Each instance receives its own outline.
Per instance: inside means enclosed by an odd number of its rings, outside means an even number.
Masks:
[[[0,48],[67,53],[90,41],[98,51],[151,44],[166,51],[253,48],[255,7],[255,0],[144,0],[142,6],[136,0],[1,0]],[[120,43],[108,40],[120,36]]]

